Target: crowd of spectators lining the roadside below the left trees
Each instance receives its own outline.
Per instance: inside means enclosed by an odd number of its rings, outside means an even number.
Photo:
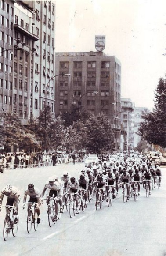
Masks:
[[[0,164],[6,169],[22,169],[32,167],[56,166],[61,163],[83,162],[85,154],[83,152],[66,153],[7,153],[0,155]]]

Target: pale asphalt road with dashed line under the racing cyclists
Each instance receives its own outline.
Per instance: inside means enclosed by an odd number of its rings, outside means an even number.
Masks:
[[[47,177],[63,171],[78,174],[83,163],[61,164],[55,167],[14,169],[0,173],[0,188],[6,184],[18,187],[23,193],[29,183],[42,191]],[[64,212],[52,227],[48,226],[47,207],[41,207],[38,230],[26,231],[27,211],[19,205],[19,228],[16,237],[9,234],[3,240],[5,208],[0,213],[0,256],[165,256],[166,249],[166,168],[162,168],[162,186],[149,198],[141,188],[137,202],[133,198],[123,203],[122,191],[111,207],[103,203],[96,211],[95,201],[88,203],[85,212],[74,218]],[[6,203],[4,200],[3,204]]]

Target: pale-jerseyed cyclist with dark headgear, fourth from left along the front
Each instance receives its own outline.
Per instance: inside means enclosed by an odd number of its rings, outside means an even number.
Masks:
[[[76,180],[75,177],[71,177],[70,180],[67,183],[67,192],[68,193],[76,193],[78,195],[79,192],[79,181]],[[75,195],[75,200],[76,200],[76,213],[79,213],[78,210],[78,197]],[[70,200],[70,194],[69,194],[69,200]]]

